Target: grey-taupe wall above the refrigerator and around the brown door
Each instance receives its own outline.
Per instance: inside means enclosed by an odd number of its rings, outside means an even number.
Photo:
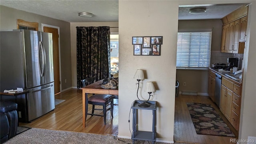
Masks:
[[[42,31],[42,24],[60,27],[60,66],[62,90],[72,86],[71,54],[70,54],[70,23],[62,20],[32,14],[22,10],[0,6],[0,31],[17,29],[17,19],[28,22],[38,22],[38,31]],[[65,79],[67,82],[65,83]]]

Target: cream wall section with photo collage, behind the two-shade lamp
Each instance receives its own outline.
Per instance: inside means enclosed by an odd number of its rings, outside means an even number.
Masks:
[[[142,69],[146,78],[141,82],[139,95],[148,98],[148,93],[144,92],[148,81],[158,87],[153,94],[153,100],[158,102],[157,138],[173,141],[177,32],[177,2],[119,1],[119,136],[130,137],[129,110],[137,99],[137,81],[133,76],[136,69]],[[132,36],[163,36],[161,56],[134,56]],[[152,131],[152,111],[139,111],[138,117],[139,130]],[[132,126],[132,117],[130,119]]]

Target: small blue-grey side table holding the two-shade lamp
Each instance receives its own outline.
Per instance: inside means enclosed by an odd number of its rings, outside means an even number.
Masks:
[[[138,100],[134,101],[132,108],[132,144],[134,144],[135,140],[149,140],[152,141],[152,144],[156,142],[156,101],[148,101],[147,103],[151,104],[149,107],[140,107],[138,106]],[[152,132],[140,131],[137,128],[138,124],[138,109],[143,110],[152,110],[153,114],[153,122],[152,122]]]

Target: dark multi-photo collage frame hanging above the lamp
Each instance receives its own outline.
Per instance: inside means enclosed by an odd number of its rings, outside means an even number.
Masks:
[[[134,56],[160,56],[163,36],[133,36]]]

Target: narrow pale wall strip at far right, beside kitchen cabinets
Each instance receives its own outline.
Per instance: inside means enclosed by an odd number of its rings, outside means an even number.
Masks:
[[[256,1],[249,6],[239,138],[256,136]]]

